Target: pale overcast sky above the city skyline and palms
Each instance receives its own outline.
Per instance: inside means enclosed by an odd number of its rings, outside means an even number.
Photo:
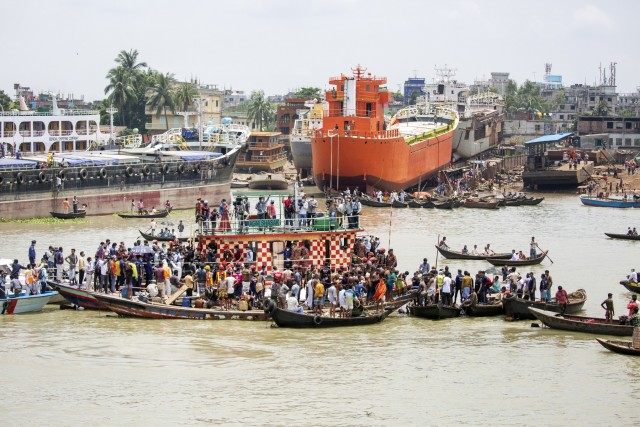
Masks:
[[[506,71],[594,83],[617,62],[619,92],[640,86],[640,2],[476,0],[2,0],[0,89],[102,99],[120,50],[184,80],[282,94],[328,87],[357,63],[396,90],[434,67],[472,83]]]

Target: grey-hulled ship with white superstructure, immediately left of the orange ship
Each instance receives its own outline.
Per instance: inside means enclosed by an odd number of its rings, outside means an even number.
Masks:
[[[311,137],[316,130],[322,129],[322,116],[324,104],[312,101],[305,104],[308,110],[299,110],[298,119],[291,130],[291,153],[293,165],[302,177],[310,174],[313,168],[311,160]]]

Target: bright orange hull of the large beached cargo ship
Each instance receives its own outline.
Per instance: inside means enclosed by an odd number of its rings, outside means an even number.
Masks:
[[[451,161],[453,130],[419,143],[403,137],[311,139],[313,177],[321,190],[333,187],[399,191],[433,177]]]

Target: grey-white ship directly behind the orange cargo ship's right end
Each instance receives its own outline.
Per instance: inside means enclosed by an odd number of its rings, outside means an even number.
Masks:
[[[493,92],[471,94],[464,83],[452,80],[453,70],[439,69],[438,81],[425,85],[418,103],[439,104],[455,109],[460,123],[453,136],[453,159],[468,159],[502,142],[505,104]]]

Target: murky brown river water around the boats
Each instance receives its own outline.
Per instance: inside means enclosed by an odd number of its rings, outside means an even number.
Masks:
[[[618,314],[618,284],[640,243],[603,232],[639,226],[638,212],[546,195],[498,211],[365,208],[362,224],[394,249],[399,268],[433,263],[438,236],[460,249],[549,249],[554,284],[584,288],[585,313]],[[190,220],[191,212],[169,218]],[[72,224],[0,224],[0,258],[25,260],[60,244],[93,253],[100,240],[133,241],[144,221],[114,216]],[[41,252],[39,251],[38,254]],[[68,251],[67,251],[68,253]],[[485,262],[438,265],[475,272]],[[630,339],[630,338],[629,338]],[[640,410],[640,358],[609,353],[586,334],[531,321],[433,322],[394,315],[358,329],[296,331],[266,322],[145,321],[48,306],[0,317],[4,425],[622,425]],[[635,394],[635,397],[634,397]]]

